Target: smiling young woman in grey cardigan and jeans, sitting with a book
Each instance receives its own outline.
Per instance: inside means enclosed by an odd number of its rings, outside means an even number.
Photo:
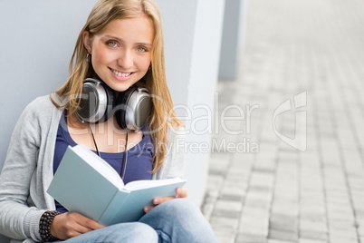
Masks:
[[[76,144],[97,151],[125,182],[183,176],[183,150],[175,147],[182,124],[168,92],[154,0],[100,0],[81,30],[70,73],[58,91],[31,102],[15,126],[0,176],[0,233],[14,242],[217,242],[184,188],[153,199],[138,222],[109,227],[68,212],[46,193],[67,146]],[[101,96],[85,102],[87,85],[109,97],[105,107]],[[150,107],[133,111],[146,124],[130,123],[122,107],[110,105],[123,104],[132,87],[150,93]]]

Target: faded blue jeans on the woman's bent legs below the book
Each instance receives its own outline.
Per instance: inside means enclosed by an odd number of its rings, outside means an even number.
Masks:
[[[120,223],[93,230],[64,243],[218,242],[202,213],[187,199],[168,200],[151,209],[139,222]]]

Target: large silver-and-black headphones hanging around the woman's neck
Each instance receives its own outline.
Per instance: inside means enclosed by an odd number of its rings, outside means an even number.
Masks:
[[[151,97],[147,89],[133,85],[116,97],[106,83],[87,78],[76,115],[81,122],[99,123],[115,113],[121,129],[139,131],[147,122],[150,110]]]

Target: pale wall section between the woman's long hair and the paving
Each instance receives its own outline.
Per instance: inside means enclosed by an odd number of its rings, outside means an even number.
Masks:
[[[166,40],[166,66],[170,92],[177,114],[186,117],[187,190],[200,205],[206,188],[213,95],[217,82],[224,0],[157,0]],[[202,108],[204,107],[204,108]],[[199,150],[193,149],[199,146]],[[199,151],[199,152],[198,152]]]

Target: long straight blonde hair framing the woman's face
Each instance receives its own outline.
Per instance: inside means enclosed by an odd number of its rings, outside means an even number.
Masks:
[[[151,68],[144,78],[136,84],[148,88],[152,94],[153,105],[148,121],[148,131],[151,131],[150,135],[155,147],[152,171],[155,172],[160,169],[167,154],[168,126],[178,127],[182,125],[182,122],[177,119],[173,110],[173,102],[168,90],[162,24],[158,5],[154,0],[100,0],[93,7],[77,39],[69,66],[70,76],[66,83],[55,92],[58,99],[66,98],[67,102],[60,105],[53,100],[52,95],[51,99],[58,108],[67,109],[68,115],[74,114],[79,109],[80,100],[72,99],[72,97],[79,97],[82,92],[83,80],[94,72],[91,62],[88,61],[88,52],[83,44],[82,33],[84,31],[88,31],[92,38],[112,20],[139,17],[140,15],[147,16],[154,27]]]

